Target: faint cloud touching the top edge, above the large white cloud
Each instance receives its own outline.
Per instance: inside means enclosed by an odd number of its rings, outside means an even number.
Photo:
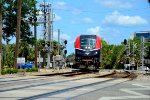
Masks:
[[[96,0],[101,5],[107,8],[132,8],[131,2],[123,0]]]

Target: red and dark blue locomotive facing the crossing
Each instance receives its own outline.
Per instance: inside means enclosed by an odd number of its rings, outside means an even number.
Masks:
[[[97,35],[80,35],[75,40],[75,66],[98,70],[101,63],[101,39]]]

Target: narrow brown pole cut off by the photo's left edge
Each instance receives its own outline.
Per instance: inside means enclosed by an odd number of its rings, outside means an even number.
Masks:
[[[2,70],[2,0],[0,0],[0,75]]]

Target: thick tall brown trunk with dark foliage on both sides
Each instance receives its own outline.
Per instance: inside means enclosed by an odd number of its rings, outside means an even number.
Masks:
[[[22,6],[22,0],[17,0],[16,47],[15,47],[15,58],[14,58],[14,67],[15,68],[17,68],[17,57],[18,57],[18,53],[19,53],[20,26],[21,26],[21,6]]]

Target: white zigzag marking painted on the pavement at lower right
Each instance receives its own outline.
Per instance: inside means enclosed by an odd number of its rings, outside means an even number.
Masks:
[[[150,99],[149,95],[144,95],[142,93],[135,92],[135,90],[150,90],[150,86],[141,85],[141,84],[132,84],[139,86],[141,88],[126,88],[126,89],[120,89],[123,92],[129,93],[133,96],[118,96],[118,97],[102,97],[98,100],[117,100],[117,99]]]

